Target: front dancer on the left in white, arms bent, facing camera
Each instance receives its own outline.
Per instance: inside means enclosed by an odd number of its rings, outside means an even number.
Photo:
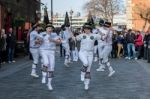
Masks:
[[[61,40],[56,33],[53,33],[54,27],[52,24],[46,26],[46,32],[41,33],[40,35],[40,53],[43,59],[42,67],[42,83],[46,83],[48,77],[48,89],[53,90],[51,81],[53,78],[54,67],[55,67],[55,50],[56,43],[60,43]]]

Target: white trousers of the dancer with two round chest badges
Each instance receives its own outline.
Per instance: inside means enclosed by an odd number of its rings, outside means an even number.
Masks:
[[[90,72],[93,62],[93,51],[79,51],[79,58],[84,66],[88,66],[86,72]]]

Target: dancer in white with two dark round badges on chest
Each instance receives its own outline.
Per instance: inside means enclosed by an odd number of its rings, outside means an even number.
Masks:
[[[92,27],[88,23],[84,24],[83,30],[85,33],[78,35],[76,40],[81,41],[79,51],[79,58],[83,63],[81,81],[84,81],[84,89],[88,90],[91,79],[90,71],[94,55],[94,42],[101,39],[101,37],[99,34],[92,33]]]

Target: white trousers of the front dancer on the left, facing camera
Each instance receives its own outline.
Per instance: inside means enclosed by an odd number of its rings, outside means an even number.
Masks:
[[[55,67],[55,51],[53,50],[40,50],[43,65],[48,67],[48,71],[54,71]]]

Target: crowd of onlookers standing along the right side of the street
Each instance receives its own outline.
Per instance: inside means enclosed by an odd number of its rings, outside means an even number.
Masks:
[[[113,34],[112,57],[126,59],[141,59],[144,55],[144,42],[150,41],[150,32],[124,29]]]

